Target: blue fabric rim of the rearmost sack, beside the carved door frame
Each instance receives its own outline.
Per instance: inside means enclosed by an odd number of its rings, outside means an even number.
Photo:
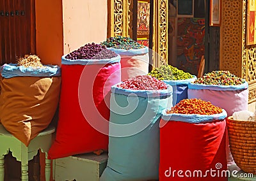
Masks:
[[[140,49],[131,49],[131,50],[116,49],[111,47],[107,49],[115,52],[118,55],[127,55],[127,56],[144,55],[148,53],[148,47],[140,48]]]

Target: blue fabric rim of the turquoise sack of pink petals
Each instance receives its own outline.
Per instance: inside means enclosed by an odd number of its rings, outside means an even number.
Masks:
[[[121,82],[122,83],[122,82]],[[163,97],[163,96],[170,96],[172,95],[172,86],[167,85],[167,89],[163,90],[132,90],[132,89],[122,89],[117,87],[120,83],[116,83],[111,87],[111,92],[115,94],[123,94],[125,96],[139,96],[143,98],[156,98],[156,97]]]

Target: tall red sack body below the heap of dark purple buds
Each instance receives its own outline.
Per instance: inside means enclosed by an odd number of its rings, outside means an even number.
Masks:
[[[94,122],[100,126],[103,119],[109,120],[110,90],[121,81],[120,68],[120,62],[61,66],[60,119],[49,159],[108,150],[108,135],[91,125]],[[88,117],[85,110],[90,113]],[[104,124],[104,130],[108,131],[108,125]]]

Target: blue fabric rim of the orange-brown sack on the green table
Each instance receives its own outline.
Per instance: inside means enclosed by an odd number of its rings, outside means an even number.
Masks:
[[[15,76],[61,76],[59,66],[44,65],[44,68],[17,66],[17,64],[4,64],[1,66],[1,75],[4,78]]]

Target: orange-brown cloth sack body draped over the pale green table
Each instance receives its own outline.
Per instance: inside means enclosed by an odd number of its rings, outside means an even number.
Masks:
[[[1,77],[0,121],[27,147],[49,126],[60,95],[60,76]]]

